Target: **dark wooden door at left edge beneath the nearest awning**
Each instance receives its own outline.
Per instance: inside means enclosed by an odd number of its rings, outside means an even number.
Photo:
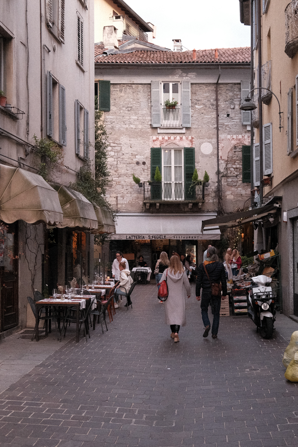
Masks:
[[[13,223],[3,236],[0,233],[1,332],[18,324],[17,254],[17,223]]]

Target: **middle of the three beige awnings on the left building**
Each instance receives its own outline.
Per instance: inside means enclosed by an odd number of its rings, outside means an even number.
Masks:
[[[58,228],[70,227],[82,231],[97,230],[97,216],[93,205],[83,194],[56,183],[50,183],[50,186],[58,192],[63,211],[63,222],[57,225]]]

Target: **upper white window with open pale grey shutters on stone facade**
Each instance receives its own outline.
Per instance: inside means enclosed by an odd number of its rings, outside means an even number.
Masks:
[[[191,127],[190,82],[151,81],[151,110],[152,127]]]

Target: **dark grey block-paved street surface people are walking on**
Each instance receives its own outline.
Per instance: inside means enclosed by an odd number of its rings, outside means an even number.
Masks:
[[[277,330],[263,340],[242,316],[222,317],[218,338],[202,338],[192,289],[180,343],[150,284],[134,289],[133,309],[122,304],[108,332],[57,344],[0,395],[0,446],[298,445],[287,340]]]

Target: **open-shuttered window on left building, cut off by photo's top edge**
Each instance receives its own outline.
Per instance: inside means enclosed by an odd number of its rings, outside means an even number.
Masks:
[[[46,24],[59,42],[64,43],[65,0],[46,0]]]

